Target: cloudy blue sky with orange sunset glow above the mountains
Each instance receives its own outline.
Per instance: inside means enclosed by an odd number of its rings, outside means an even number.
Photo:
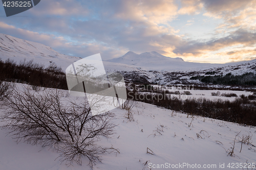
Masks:
[[[156,51],[193,62],[252,60],[256,0],[41,0],[10,17],[2,6],[0,33],[82,58]]]

